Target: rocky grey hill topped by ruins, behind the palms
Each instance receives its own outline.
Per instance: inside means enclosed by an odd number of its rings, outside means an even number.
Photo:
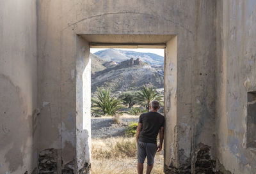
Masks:
[[[131,58],[92,74],[92,92],[97,87],[110,88],[112,92],[134,91],[150,83],[155,88],[163,88],[163,73],[161,66],[152,68],[147,62]]]

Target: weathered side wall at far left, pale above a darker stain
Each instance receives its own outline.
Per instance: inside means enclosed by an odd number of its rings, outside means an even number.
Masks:
[[[36,1],[0,1],[0,173],[36,168]]]

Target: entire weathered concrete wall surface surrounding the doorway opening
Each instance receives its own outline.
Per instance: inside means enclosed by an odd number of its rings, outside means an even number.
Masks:
[[[255,173],[255,8],[254,0],[38,0],[36,11],[33,0],[1,1],[0,173],[88,173],[86,37],[99,34],[110,44],[116,34],[175,35],[164,66],[166,173]]]

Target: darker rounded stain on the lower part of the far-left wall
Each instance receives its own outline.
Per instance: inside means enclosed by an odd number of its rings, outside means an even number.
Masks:
[[[33,115],[22,91],[8,76],[0,75],[0,173],[22,171],[24,164],[33,161]],[[32,163],[35,164],[36,163]],[[28,170],[26,166],[24,170]],[[25,173],[26,171],[22,171]]]

